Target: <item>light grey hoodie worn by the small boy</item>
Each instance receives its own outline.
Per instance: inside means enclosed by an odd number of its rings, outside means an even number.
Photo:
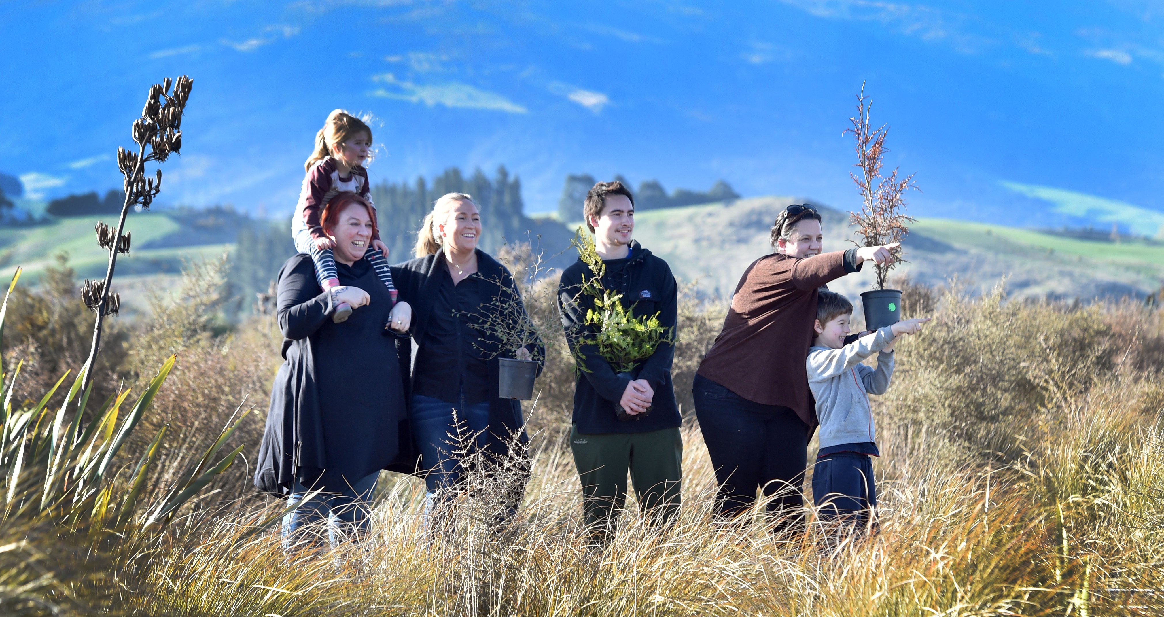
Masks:
[[[893,340],[886,326],[842,347],[812,347],[808,353],[808,385],[816,399],[821,447],[876,441],[868,395],[882,395],[893,375],[893,353],[876,356],[876,369],[861,361]]]

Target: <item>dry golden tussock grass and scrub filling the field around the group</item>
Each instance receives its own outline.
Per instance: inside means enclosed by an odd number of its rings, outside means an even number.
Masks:
[[[710,460],[688,424],[674,524],[650,525],[632,497],[610,544],[588,546],[562,438],[573,375],[566,356],[552,353],[551,381],[527,410],[532,477],[506,525],[491,524],[490,496],[499,492],[491,482],[512,478],[482,476],[449,531],[433,533],[421,516],[423,483],[385,473],[359,542],[289,552],[277,530],[254,533],[283,504],[254,495],[236,464],[163,531],[98,549],[70,549],[64,531],[5,519],[0,544],[17,547],[0,549],[0,607],[24,589],[64,612],[111,615],[1164,612],[1161,313],[1008,303],[1001,290],[972,298],[957,286],[907,296],[907,307],[935,306],[937,319],[900,345],[889,393],[875,397],[875,533],[837,536],[805,509],[803,527],[774,534],[762,504],[750,523],[715,520]],[[723,314],[695,300],[683,310],[683,322],[700,326],[681,332],[676,382],[690,378]],[[175,462],[156,482],[180,467],[183,453],[198,452],[200,433],[217,433],[243,393],[265,409],[262,388],[277,362],[262,320],[182,341],[175,373],[184,361],[189,373],[159,392],[155,420],[182,437],[166,442]],[[248,424],[234,442],[251,454],[260,431]],[[27,614],[48,614],[24,602]]]

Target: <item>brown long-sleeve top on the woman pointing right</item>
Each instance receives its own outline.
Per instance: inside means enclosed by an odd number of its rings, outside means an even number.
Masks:
[[[804,370],[816,290],[858,270],[857,249],[803,258],[775,253],[755,260],[736,285],[723,331],[698,374],[748,400],[789,407],[816,427]]]

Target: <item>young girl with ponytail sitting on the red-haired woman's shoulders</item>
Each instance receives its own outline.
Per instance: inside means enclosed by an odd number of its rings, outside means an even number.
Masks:
[[[335,257],[332,239],[324,234],[320,226],[320,213],[324,206],[336,193],[350,191],[371,204],[368,185],[368,171],[363,164],[371,158],[371,128],[364,121],[345,112],[335,109],[327,114],[324,128],[315,135],[315,149],[304,168],[307,175],[303,178],[303,190],[299,203],[296,204],[294,218],[291,219],[291,237],[299,253],[311,255],[315,264],[315,276],[325,290],[340,284],[335,274]],[[375,205],[372,204],[375,211]],[[392,304],[396,304],[396,288],[392,286],[392,272],[388,267],[388,247],[379,235],[371,239],[371,247],[364,254],[376,269],[381,282],[391,292]],[[332,320],[341,322],[352,314],[352,306],[340,304]]]

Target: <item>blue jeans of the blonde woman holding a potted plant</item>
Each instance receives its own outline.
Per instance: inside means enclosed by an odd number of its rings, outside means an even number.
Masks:
[[[427,471],[425,485],[431,501],[438,489],[457,483],[461,459],[466,454],[485,447],[489,402],[466,405],[464,393],[461,393],[460,404],[454,405],[431,396],[413,395],[409,421],[420,449],[420,469]]]

